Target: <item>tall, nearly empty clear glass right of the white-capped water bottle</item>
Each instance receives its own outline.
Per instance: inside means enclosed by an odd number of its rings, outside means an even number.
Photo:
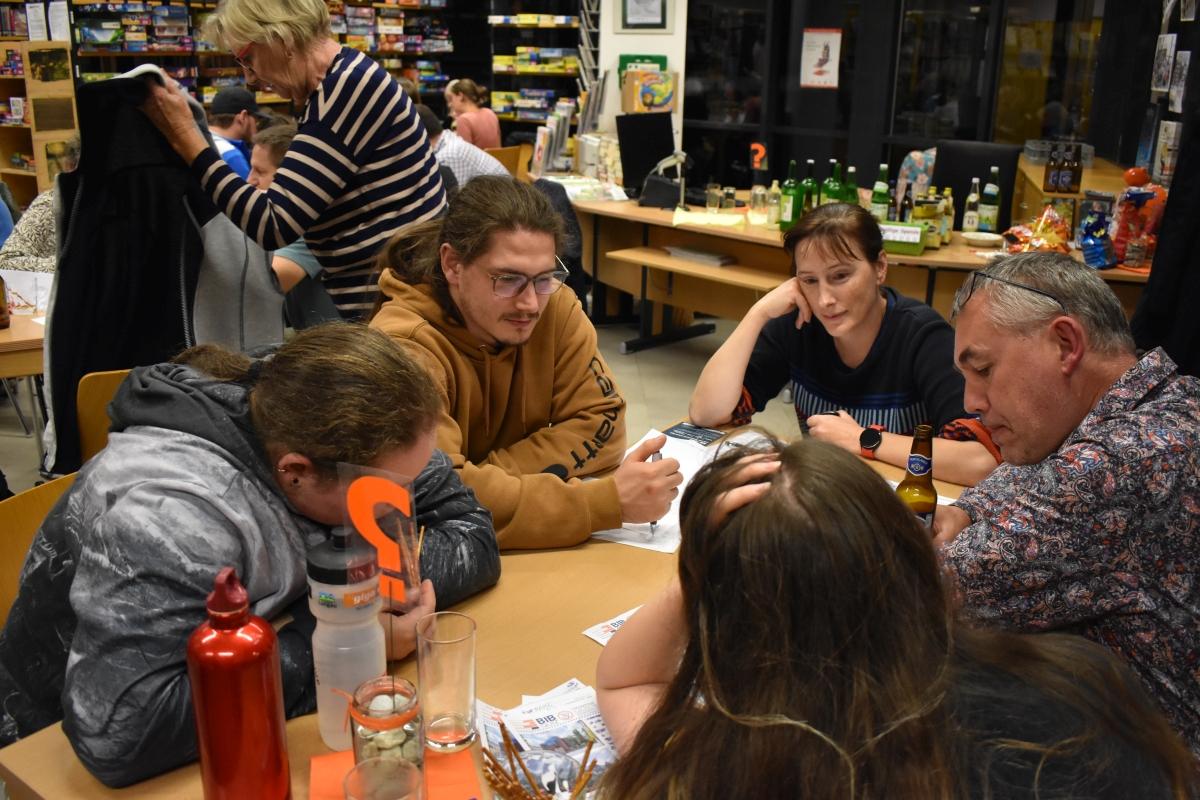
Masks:
[[[475,739],[475,620],[438,612],[416,622],[416,675],[425,744],[444,752]]]

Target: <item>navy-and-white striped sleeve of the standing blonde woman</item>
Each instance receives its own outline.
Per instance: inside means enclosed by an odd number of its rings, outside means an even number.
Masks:
[[[395,133],[385,122],[407,102],[383,68],[364,66],[365,55],[343,52],[338,58],[310,100],[270,190],[259,192],[240,179],[212,148],[192,162],[216,206],[266,249],[301,237],[337,201],[367,166],[372,145]],[[406,116],[415,120],[415,114]]]

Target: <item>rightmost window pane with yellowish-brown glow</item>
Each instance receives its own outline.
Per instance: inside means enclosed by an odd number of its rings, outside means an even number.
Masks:
[[[1009,0],[996,142],[1087,137],[1103,0]]]

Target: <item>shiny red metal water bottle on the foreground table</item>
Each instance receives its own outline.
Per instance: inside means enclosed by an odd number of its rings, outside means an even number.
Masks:
[[[246,588],[232,566],[217,573],[208,609],[208,621],[187,640],[204,798],[290,798],[275,631],[250,613]]]

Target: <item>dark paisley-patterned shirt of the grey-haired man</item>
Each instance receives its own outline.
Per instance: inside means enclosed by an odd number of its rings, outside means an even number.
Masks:
[[[1108,645],[1200,757],[1200,380],[1147,353],[1056,452],[955,505],[966,616]]]

